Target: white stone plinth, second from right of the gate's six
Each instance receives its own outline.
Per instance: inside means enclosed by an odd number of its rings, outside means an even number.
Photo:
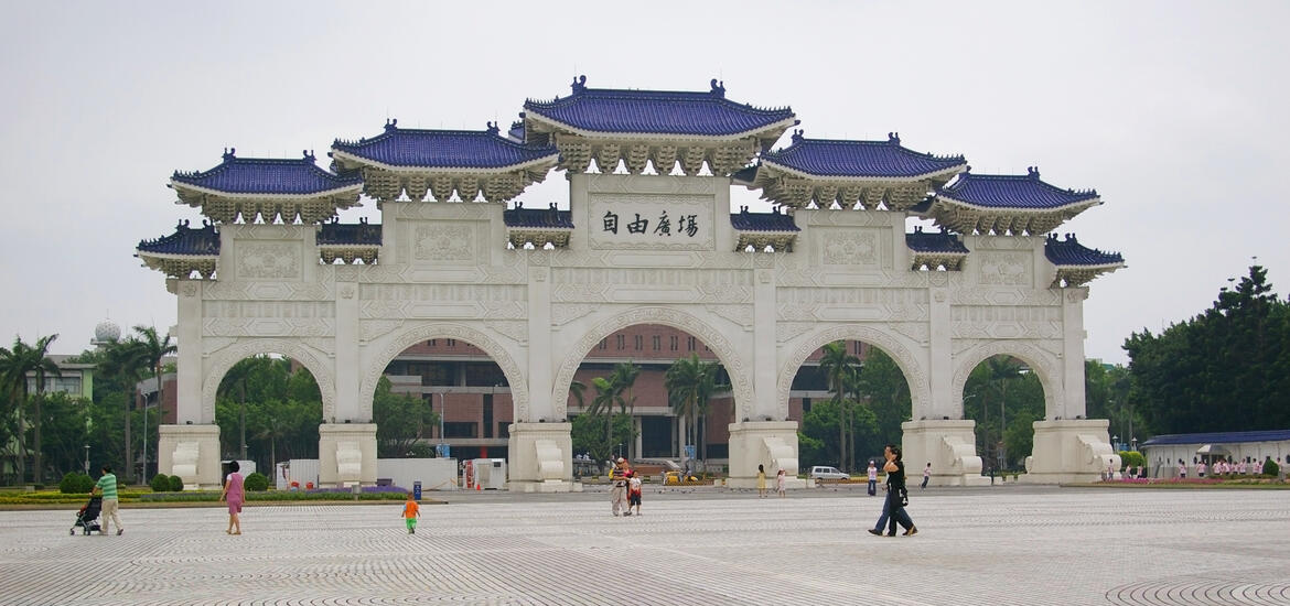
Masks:
[[[980,474],[977,456],[977,422],[909,420],[900,423],[904,471],[909,482],[918,482],[922,468],[931,463],[931,486],[983,486],[988,477]],[[878,462],[878,467],[881,467]]]

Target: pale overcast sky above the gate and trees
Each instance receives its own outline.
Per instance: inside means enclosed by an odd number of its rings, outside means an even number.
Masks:
[[[1258,255],[1285,297],[1290,3],[25,3],[0,24],[0,335],[89,347],[175,320],[141,239],[201,215],[175,169],[334,138],[482,129],[525,98],[707,90],[792,106],[808,137],[964,153],[1094,187],[1062,226],[1129,267],[1091,284],[1086,353],[1205,309]],[[787,144],[787,135],[782,141]],[[755,192],[735,190],[734,204]],[[559,173],[520,197],[566,204]],[[368,202],[343,220],[378,217]],[[379,220],[379,219],[374,219]]]

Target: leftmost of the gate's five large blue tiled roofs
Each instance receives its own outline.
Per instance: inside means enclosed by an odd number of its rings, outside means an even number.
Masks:
[[[237,150],[224,152],[224,161],[206,171],[175,171],[177,183],[224,193],[310,195],[362,183],[357,174],[326,171],[313,164],[313,153],[298,160],[237,157]]]

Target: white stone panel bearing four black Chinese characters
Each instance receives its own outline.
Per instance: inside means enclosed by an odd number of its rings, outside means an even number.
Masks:
[[[715,196],[591,193],[587,226],[597,250],[715,250]]]

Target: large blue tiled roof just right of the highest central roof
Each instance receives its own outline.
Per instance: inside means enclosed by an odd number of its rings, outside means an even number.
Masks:
[[[900,144],[895,133],[888,141],[808,139],[793,133],[793,143],[761,155],[762,161],[815,177],[922,177],[961,169],[962,156],[918,153]]]

